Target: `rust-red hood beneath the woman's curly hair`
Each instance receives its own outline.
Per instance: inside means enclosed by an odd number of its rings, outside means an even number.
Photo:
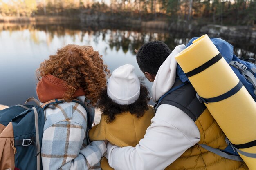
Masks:
[[[52,99],[62,99],[63,94],[67,91],[67,88],[65,87],[66,84],[67,82],[54,77],[53,75],[44,75],[36,87],[38,99],[42,103],[48,102]],[[83,89],[79,88],[74,94],[74,97],[83,95],[85,95],[85,92]]]

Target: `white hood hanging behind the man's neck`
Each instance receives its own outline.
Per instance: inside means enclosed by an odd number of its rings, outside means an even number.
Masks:
[[[160,97],[162,97],[162,95],[169,91],[173,86],[176,79],[177,67],[177,61],[174,57],[177,55],[177,53],[180,53],[180,51],[184,50],[185,48],[186,46],[183,44],[176,46],[173,52],[160,66],[151,88],[152,99],[154,102],[157,102]]]

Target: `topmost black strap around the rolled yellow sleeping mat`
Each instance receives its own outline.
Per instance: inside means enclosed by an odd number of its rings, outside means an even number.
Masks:
[[[186,73],[186,76],[187,77],[192,77],[193,75],[196,75],[196,74],[204,71],[205,69],[207,69],[211,65],[215,64],[220,59],[222,59],[222,55],[219,53],[218,55],[213,57],[211,60],[209,60],[208,62],[204,63],[202,66],[199,66],[198,68],[195,68],[194,70],[191,70],[188,73]]]

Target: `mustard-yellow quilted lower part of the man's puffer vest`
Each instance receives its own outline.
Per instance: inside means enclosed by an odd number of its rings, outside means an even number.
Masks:
[[[208,109],[204,110],[195,124],[200,132],[199,144],[206,144],[219,149],[227,147],[226,135]],[[249,170],[249,168],[244,162],[220,157],[195,144],[165,170]]]

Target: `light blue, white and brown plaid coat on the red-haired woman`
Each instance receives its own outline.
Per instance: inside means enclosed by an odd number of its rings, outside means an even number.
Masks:
[[[78,99],[85,101],[82,96]],[[41,148],[43,170],[101,170],[99,161],[106,152],[106,145],[103,141],[89,144],[85,108],[69,102],[49,106],[45,113]]]

